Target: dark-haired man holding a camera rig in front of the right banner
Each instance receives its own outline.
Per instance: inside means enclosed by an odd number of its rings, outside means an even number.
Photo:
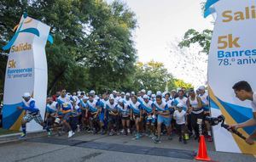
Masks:
[[[256,126],[256,93],[253,93],[252,87],[249,85],[247,81],[239,81],[233,87],[234,92],[236,94],[236,98],[239,98],[241,101],[250,100],[252,101],[253,108],[253,119],[247,120],[243,123],[235,124],[230,126],[230,128],[234,128],[235,130],[238,128],[243,128],[247,126]],[[247,137],[246,142],[248,144],[253,144],[253,138],[256,137],[256,129],[254,127],[253,134]]]

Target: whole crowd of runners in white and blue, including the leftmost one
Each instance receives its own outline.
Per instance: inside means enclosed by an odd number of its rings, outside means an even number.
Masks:
[[[21,137],[26,137],[26,123],[35,120],[48,131],[48,135],[61,136],[68,132],[130,135],[139,140],[150,137],[160,142],[161,136],[172,140],[174,134],[179,142],[199,140],[200,134],[212,142],[211,126],[205,121],[210,115],[206,87],[196,90],[177,88],[172,92],[117,92],[97,94],[86,92],[56,92],[47,98],[44,119],[36,101],[26,92],[18,109],[26,109],[22,120]]]

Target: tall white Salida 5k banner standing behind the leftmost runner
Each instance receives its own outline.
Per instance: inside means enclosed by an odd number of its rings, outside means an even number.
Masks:
[[[15,26],[15,35],[3,47],[9,50],[3,97],[3,128],[20,130],[24,112],[16,109],[24,92],[30,92],[44,117],[47,95],[47,61],[45,45],[49,26],[26,15]],[[42,130],[34,120],[26,125],[27,131]]]

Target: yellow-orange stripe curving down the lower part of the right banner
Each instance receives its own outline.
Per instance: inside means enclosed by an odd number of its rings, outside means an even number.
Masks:
[[[218,102],[218,98],[216,98],[216,96],[214,95],[214,93],[212,92],[211,87],[208,87],[209,90],[209,96],[210,98],[213,100],[214,103],[216,103],[218,105],[218,108],[220,109],[222,115],[224,115],[225,117],[225,121],[228,125],[233,125],[236,124],[236,120],[233,119],[233,117],[226,111],[226,109],[224,108],[224,106]],[[239,131],[241,132],[241,134],[245,137],[248,137],[249,135],[247,134],[246,131],[244,131],[243,129],[239,129]],[[243,139],[241,139],[241,137],[236,136],[236,134],[232,133],[232,136],[234,137],[236,144],[238,145],[238,147],[241,150],[241,153],[243,154],[254,154],[256,155],[256,146],[255,144],[253,145],[249,145],[247,144],[247,142],[245,142]]]

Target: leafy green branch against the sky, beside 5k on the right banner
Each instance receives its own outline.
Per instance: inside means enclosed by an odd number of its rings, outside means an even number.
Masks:
[[[202,32],[189,29],[186,31],[183,40],[179,42],[178,47],[190,47],[191,44],[198,43],[202,47],[202,53],[209,53],[212,40],[212,31],[204,30]]]

